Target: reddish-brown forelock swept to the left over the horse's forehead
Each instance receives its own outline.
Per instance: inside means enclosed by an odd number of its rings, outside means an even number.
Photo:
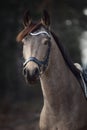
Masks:
[[[17,36],[16,40],[18,42],[22,41],[22,39],[29,33],[37,30],[40,26],[44,26],[41,22],[31,23],[29,26],[25,27]]]

